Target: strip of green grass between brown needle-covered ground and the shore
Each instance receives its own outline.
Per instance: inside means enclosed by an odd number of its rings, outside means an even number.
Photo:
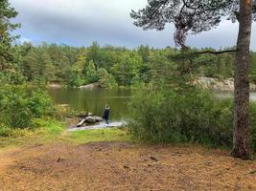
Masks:
[[[51,142],[81,144],[92,141],[131,141],[126,129],[111,128],[67,132],[65,131],[66,124],[53,118],[37,118],[34,124],[36,129],[12,130],[9,137],[0,137],[0,148]]]

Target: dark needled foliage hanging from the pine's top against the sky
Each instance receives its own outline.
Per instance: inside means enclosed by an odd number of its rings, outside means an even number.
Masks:
[[[255,5],[255,0],[253,3]],[[185,48],[187,34],[209,31],[221,23],[223,16],[232,21],[239,20],[239,11],[240,2],[237,0],[151,0],[146,8],[131,11],[130,16],[134,25],[144,30],[162,31],[166,24],[175,24],[175,44]],[[256,20],[255,11],[251,13]]]

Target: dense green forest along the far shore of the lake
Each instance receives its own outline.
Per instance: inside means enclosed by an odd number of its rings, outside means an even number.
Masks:
[[[175,77],[192,80],[206,76],[221,80],[234,76],[234,53],[192,55],[204,51],[215,50],[192,48],[191,55],[186,57],[172,47],[101,47],[95,41],[89,47],[75,48],[47,43],[34,46],[25,42],[12,47],[15,60],[12,66],[2,68],[1,83],[59,83],[63,87],[75,88],[99,82],[101,88],[115,89],[156,83],[159,79],[172,83]],[[256,82],[256,53],[253,52],[249,78],[251,83]]]

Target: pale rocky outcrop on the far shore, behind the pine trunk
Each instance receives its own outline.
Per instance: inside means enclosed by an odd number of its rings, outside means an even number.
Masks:
[[[199,77],[193,81],[193,84],[198,85],[202,89],[214,91],[234,91],[233,78],[220,80],[213,77]],[[250,90],[256,90],[256,86],[254,84],[250,84]]]

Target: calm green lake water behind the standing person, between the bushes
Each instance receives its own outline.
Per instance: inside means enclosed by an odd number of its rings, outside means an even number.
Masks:
[[[103,116],[105,104],[110,106],[110,119],[120,120],[127,114],[128,90],[82,90],[82,89],[49,89],[58,104],[68,104],[71,109],[79,112],[91,112]]]

